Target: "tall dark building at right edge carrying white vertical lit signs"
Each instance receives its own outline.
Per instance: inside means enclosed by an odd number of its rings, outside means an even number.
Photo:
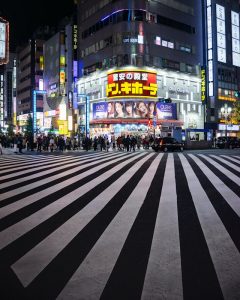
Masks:
[[[239,134],[230,124],[233,104],[240,100],[239,1],[204,0],[206,127],[217,135]]]

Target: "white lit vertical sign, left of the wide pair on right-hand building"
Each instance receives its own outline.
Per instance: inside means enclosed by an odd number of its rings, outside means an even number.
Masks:
[[[216,4],[218,61],[226,63],[225,7]]]

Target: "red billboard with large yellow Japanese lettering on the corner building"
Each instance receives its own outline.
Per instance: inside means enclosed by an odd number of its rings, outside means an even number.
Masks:
[[[145,70],[117,70],[108,73],[107,98],[156,98],[157,73]]]

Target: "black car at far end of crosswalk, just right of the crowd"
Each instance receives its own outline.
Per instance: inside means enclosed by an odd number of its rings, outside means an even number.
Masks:
[[[158,151],[183,151],[184,144],[178,142],[175,138],[172,137],[164,137],[155,139],[154,144],[152,145],[152,149],[156,152]]]

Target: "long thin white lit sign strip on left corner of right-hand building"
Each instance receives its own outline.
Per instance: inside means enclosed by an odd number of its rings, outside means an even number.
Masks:
[[[213,96],[213,37],[212,37],[212,3],[207,1],[207,49],[208,49],[208,95]]]

